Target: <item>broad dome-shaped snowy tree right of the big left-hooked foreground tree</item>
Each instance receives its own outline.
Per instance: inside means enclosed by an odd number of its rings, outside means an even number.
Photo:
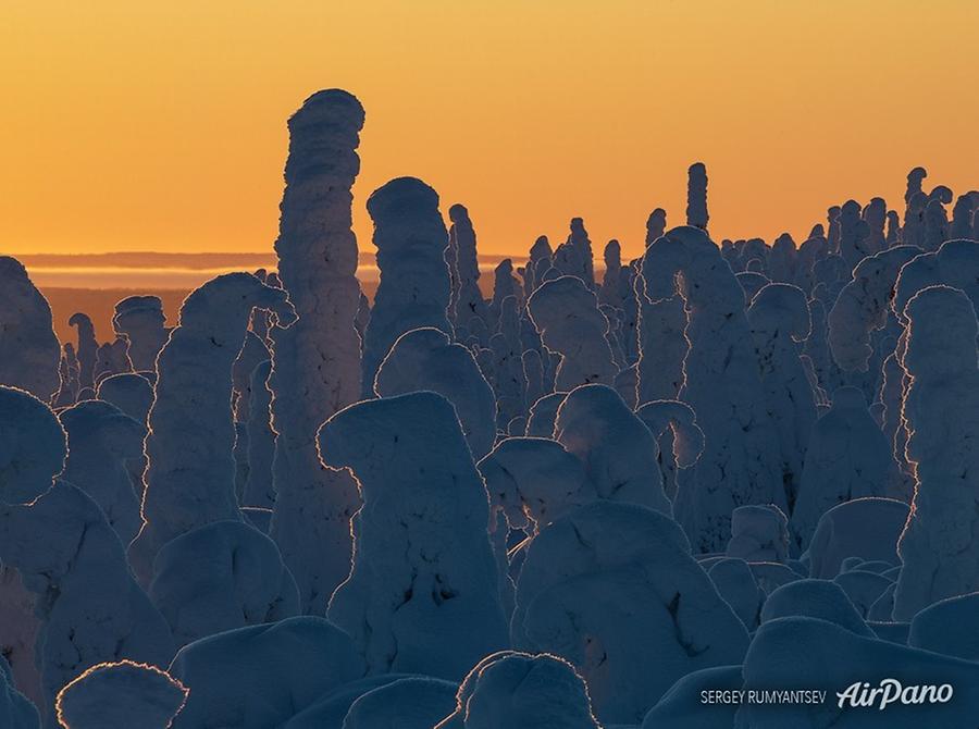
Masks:
[[[680,526],[595,502],[530,543],[513,645],[570,660],[603,721],[637,724],[681,676],[740,663],[747,631],[694,561]]]

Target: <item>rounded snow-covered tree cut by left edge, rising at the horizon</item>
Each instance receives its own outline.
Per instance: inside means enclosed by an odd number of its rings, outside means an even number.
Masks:
[[[61,345],[51,307],[15,258],[0,256],[0,384],[45,403],[61,384]]]

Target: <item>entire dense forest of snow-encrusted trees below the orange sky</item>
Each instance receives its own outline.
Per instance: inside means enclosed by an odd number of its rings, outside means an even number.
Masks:
[[[0,729],[979,726],[979,193],[718,240],[695,163],[640,258],[574,218],[484,297],[400,177],[369,301],[363,123],[306,100],[277,270],[178,321],[59,342],[0,258]],[[954,695],[837,700],[885,679]],[[827,697],[703,700],[773,689]]]

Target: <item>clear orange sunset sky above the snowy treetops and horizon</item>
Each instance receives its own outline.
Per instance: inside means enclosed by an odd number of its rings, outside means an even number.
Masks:
[[[4,0],[0,250],[269,250],[286,118],[332,86],[362,248],[412,174],[484,252],[582,215],[635,254],[695,160],[715,237],[798,238],[915,164],[979,186],[977,30],[975,0]]]

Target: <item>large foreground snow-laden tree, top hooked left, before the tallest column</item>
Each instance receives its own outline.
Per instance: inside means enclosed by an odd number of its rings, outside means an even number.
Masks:
[[[320,452],[363,496],[350,577],[327,615],[370,670],[459,680],[506,646],[488,498],[448,400],[422,392],[350,406],[323,425]]]

